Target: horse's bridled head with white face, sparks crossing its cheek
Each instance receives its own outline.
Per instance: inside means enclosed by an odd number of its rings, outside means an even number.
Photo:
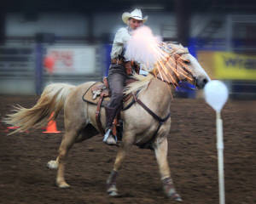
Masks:
[[[163,46],[167,55],[166,60],[157,65],[158,77],[174,84],[188,81],[195,84],[197,88],[204,88],[211,80],[197,59],[189,54],[188,48],[169,43]]]

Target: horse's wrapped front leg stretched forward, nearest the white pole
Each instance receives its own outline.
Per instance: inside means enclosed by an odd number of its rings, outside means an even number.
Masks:
[[[177,194],[174,184],[172,182],[171,172],[167,161],[168,141],[159,139],[154,145],[154,153],[160,168],[160,176],[163,182],[163,189],[168,197],[173,198],[175,201],[182,201],[181,196]]]

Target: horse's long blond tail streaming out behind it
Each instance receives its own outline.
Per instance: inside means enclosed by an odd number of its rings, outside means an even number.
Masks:
[[[14,132],[24,132],[31,127],[44,127],[49,120],[55,120],[64,106],[67,95],[75,86],[67,83],[52,83],[44,88],[44,92],[36,105],[26,109],[20,105],[15,106],[15,113],[9,114],[3,119],[9,125],[19,127]],[[54,116],[50,118],[50,114]]]

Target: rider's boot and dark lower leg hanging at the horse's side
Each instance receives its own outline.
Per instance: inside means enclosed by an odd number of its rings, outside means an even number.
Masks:
[[[106,131],[104,134],[103,142],[109,145],[117,144],[117,138],[113,135],[111,127],[114,116],[116,114],[116,108],[105,107],[106,110]]]

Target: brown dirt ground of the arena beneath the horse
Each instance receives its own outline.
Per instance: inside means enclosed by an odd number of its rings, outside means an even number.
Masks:
[[[0,117],[12,105],[32,107],[37,97],[0,95]],[[256,203],[256,101],[229,101],[224,119],[224,172],[227,204]],[[57,127],[64,132],[63,114]],[[102,136],[75,144],[67,161],[70,189],[55,186],[55,159],[61,135],[42,129],[7,136],[0,129],[0,203],[176,203],[165,198],[151,150],[134,146],[119,172],[119,198],[105,193],[117,148],[102,144]],[[173,99],[168,160],[184,204],[218,203],[218,157],[215,113],[202,99]]]

